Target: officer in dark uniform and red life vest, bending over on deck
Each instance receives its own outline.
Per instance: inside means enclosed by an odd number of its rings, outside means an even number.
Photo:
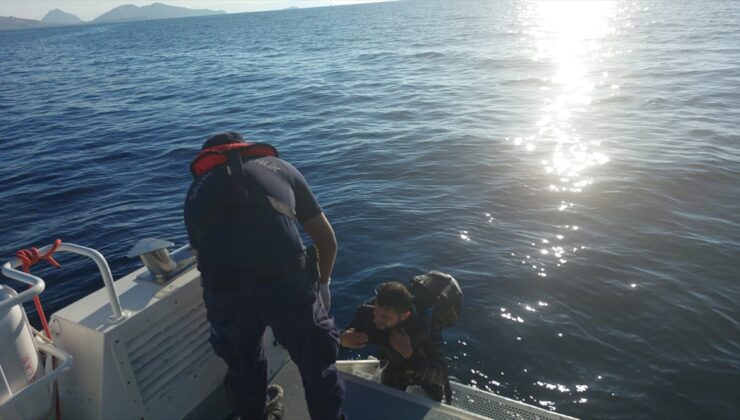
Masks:
[[[270,326],[298,365],[311,418],[341,418],[339,332],[328,314],[337,244],[306,180],[272,146],[235,132],[209,138],[191,172],[185,224],[235,416],[281,416],[282,389],[268,390],[262,347]],[[307,258],[297,224],[316,245],[320,270]]]

